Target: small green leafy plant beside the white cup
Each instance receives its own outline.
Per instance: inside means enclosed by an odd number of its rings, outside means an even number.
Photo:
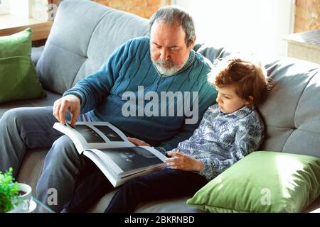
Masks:
[[[4,174],[0,171],[0,213],[5,213],[14,208],[14,201],[18,198],[18,183],[14,182],[12,168]]]

